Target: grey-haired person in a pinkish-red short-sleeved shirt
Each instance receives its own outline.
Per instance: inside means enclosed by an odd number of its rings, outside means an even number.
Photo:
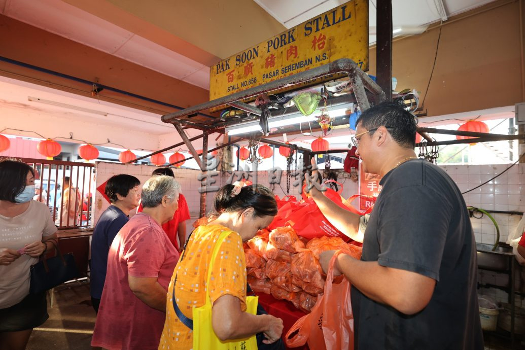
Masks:
[[[92,346],[157,349],[166,309],[166,290],[178,252],[162,230],[177,210],[181,186],[154,176],[142,187],[141,213],[113,239]]]

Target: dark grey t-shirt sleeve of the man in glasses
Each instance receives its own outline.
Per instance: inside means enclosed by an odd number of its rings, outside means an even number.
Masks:
[[[381,200],[378,238],[381,266],[439,281],[452,206],[426,186],[407,186]]]

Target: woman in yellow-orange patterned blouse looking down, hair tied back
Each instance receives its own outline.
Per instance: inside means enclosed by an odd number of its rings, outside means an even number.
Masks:
[[[159,349],[191,349],[193,331],[177,317],[172,295],[183,317],[205,303],[206,288],[212,306],[212,326],[217,337],[234,340],[264,333],[271,344],[279,340],[282,320],[271,315],[252,315],[246,310],[246,264],[243,241],[267,227],[277,214],[271,190],[262,185],[222,187],[214,198],[215,213],[206,225],[197,227],[188,240],[170,282],[166,297],[166,321]],[[216,240],[223,231],[230,234],[220,245],[220,259],[213,262],[212,279],[206,285],[207,267]],[[175,290],[173,283],[175,281]],[[234,326],[235,325],[235,326]],[[197,350],[197,349],[194,349]]]

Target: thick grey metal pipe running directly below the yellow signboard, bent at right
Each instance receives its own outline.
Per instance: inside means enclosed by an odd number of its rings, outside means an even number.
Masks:
[[[284,77],[275,81],[271,81],[265,84],[262,84],[260,86],[250,88],[244,91],[239,91],[236,93],[233,93],[229,96],[225,96],[222,98],[218,98],[209,102],[197,104],[193,107],[186,108],[182,111],[177,111],[170,114],[165,114],[162,116],[161,120],[165,123],[173,123],[180,119],[183,116],[198,113],[203,110],[208,110],[214,107],[219,107],[224,104],[230,104],[235,101],[243,100],[246,98],[257,96],[261,93],[265,93],[272,90],[277,90],[279,88],[298,84],[304,81],[312,80],[315,78],[320,78],[329,74],[333,73],[339,73],[339,72],[346,72],[349,75],[352,74],[358,74],[361,78],[361,80],[365,80],[366,84],[365,87],[372,88],[372,92],[374,94],[379,94],[381,88],[377,86],[370,78],[369,80],[366,80],[364,78],[365,74],[361,69],[358,69],[356,67],[356,63],[349,59],[349,58],[341,58],[338,60],[335,60],[333,62],[328,63],[327,65],[323,65],[320,67],[312,68],[304,72],[297,73],[292,76]]]

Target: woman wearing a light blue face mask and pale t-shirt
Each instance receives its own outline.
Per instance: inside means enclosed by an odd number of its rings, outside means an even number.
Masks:
[[[54,248],[57,228],[34,196],[33,168],[0,160],[0,347],[12,350],[25,349],[49,317],[45,292],[29,294],[29,269]]]

